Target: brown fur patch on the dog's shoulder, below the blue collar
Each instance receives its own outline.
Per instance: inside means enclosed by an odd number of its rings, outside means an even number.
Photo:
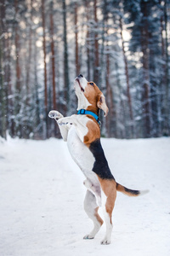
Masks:
[[[100,129],[97,121],[89,120],[87,123],[88,134],[84,137],[84,143],[89,147],[96,139],[100,137]]]

